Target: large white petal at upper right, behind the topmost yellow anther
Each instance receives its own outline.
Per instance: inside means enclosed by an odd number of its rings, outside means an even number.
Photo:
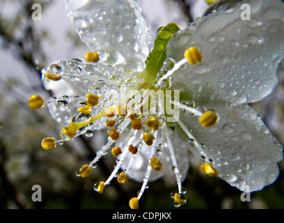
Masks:
[[[251,6],[250,21],[241,20],[242,3]],[[200,49],[203,62],[180,68],[172,84],[207,105],[216,100],[231,105],[262,100],[278,83],[276,70],[284,58],[283,1],[226,1],[220,8],[226,6],[233,7],[178,32],[167,49],[167,56],[177,61],[188,47]]]

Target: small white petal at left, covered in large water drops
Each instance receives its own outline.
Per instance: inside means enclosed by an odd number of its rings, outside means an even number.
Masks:
[[[49,81],[46,78],[47,72],[61,75],[61,79]],[[76,114],[79,103],[86,102],[88,92],[99,95],[107,89],[118,91],[118,82],[110,80],[111,77],[120,78],[118,76],[123,77],[123,73],[101,62],[85,63],[80,59],[69,59],[50,64],[42,70],[42,82],[45,89],[52,91],[53,96],[56,97],[56,99],[50,98],[47,103],[52,118],[62,125],[67,125],[70,118]],[[99,91],[95,88],[98,83],[100,83]],[[97,107],[93,112],[99,109]],[[95,128],[95,125],[93,127]]]

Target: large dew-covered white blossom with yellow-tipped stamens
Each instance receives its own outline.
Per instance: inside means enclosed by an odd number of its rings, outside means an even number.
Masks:
[[[111,151],[118,156],[116,167],[94,189],[102,193],[116,176],[119,183],[143,181],[138,197],[129,201],[131,208],[139,207],[148,181],[171,174],[178,183],[175,206],[186,203],[181,183],[189,168],[187,148],[203,162],[203,173],[240,190],[244,185],[262,190],[276,180],[282,146],[247,104],[265,98],[278,83],[283,1],[219,1],[184,30],[175,24],[159,29],[155,46],[136,1],[65,2],[70,21],[92,52],[85,61],[56,61],[42,70],[42,81],[54,92],[47,107],[64,126],[61,139],[45,138],[43,148],[109,128],[107,144],[77,175],[89,176]],[[240,19],[242,3],[250,4],[251,21]],[[180,98],[165,96],[157,106],[145,97],[129,106],[149,90],[178,90]],[[179,109],[178,120],[168,121],[175,112],[141,109],[168,104]],[[33,95],[29,105],[42,107],[43,99]]]

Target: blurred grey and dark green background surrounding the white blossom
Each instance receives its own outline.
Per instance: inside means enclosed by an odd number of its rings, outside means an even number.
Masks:
[[[33,21],[33,3],[40,3],[42,19]],[[204,0],[139,0],[150,22],[153,36],[159,26],[175,22],[181,28],[203,15]],[[93,137],[78,137],[52,151],[40,147],[42,137],[60,130],[47,107],[32,110],[31,95],[49,97],[40,82],[40,70],[52,61],[84,57],[87,47],[80,42],[65,13],[63,0],[0,0],[0,208],[128,208],[128,201],[141,184],[129,180],[120,185],[113,180],[104,194],[93,184],[106,179],[115,160],[100,160],[88,178],[77,178],[82,164],[93,160],[105,144],[104,131]],[[269,97],[252,105],[262,115],[271,132],[284,144],[284,66],[280,82]],[[240,200],[241,192],[219,178],[200,173],[193,157],[183,186],[187,204],[182,208],[284,208],[284,162],[273,185],[251,194],[251,202]],[[42,187],[42,201],[33,202],[33,185]],[[161,178],[149,183],[141,208],[174,208],[170,193],[175,180]]]

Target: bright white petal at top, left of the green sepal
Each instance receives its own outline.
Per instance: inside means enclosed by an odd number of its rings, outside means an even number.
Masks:
[[[100,59],[141,70],[150,47],[150,28],[134,0],[65,0],[68,17],[81,40]]]

